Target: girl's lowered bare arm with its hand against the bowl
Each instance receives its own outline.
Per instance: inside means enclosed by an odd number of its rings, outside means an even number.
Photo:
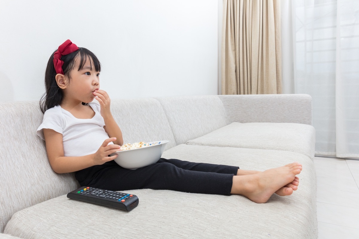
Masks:
[[[52,129],[43,129],[46,152],[48,161],[51,168],[56,173],[70,173],[84,168],[88,168],[94,165],[104,164],[117,157],[108,157],[109,154],[118,151],[119,145],[109,144],[109,142],[115,142],[116,138],[106,139],[101,147],[94,154],[89,154],[80,157],[64,157],[64,145],[62,143],[62,134]]]

